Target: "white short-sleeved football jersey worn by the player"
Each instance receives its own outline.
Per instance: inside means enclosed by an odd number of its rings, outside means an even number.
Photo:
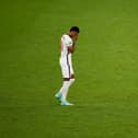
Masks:
[[[60,58],[67,58],[67,56],[71,55],[70,53],[68,53],[68,47],[72,45],[73,45],[73,42],[68,34],[65,34],[61,36],[61,57]]]

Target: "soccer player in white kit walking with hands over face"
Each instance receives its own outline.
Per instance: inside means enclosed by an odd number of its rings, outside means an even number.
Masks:
[[[68,34],[61,36],[61,56],[60,56],[60,67],[62,72],[62,87],[56,97],[61,102],[60,105],[73,105],[67,101],[67,94],[70,85],[74,82],[74,72],[72,68],[71,56],[76,49],[76,42],[80,30],[78,26],[72,26]]]

